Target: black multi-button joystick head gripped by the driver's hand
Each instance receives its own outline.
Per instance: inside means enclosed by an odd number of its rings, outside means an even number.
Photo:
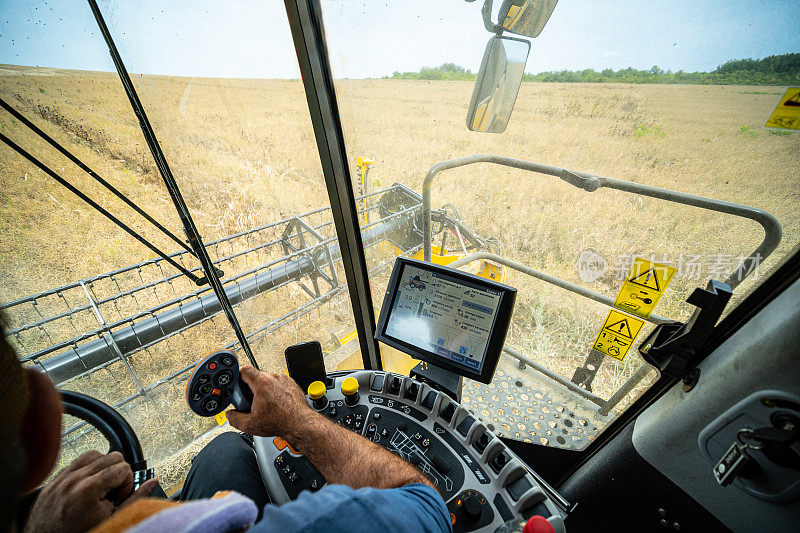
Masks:
[[[242,381],[236,355],[220,350],[197,363],[186,384],[186,401],[200,416],[217,415],[231,404],[249,413],[253,391]]]

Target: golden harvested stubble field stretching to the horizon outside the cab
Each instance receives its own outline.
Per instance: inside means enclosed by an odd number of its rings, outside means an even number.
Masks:
[[[300,81],[135,76],[135,83],[206,240],[327,204]],[[779,87],[525,83],[502,135],[466,130],[470,82],[341,80],[337,91],[351,172],[356,176],[356,156],[374,158],[371,177],[383,186],[400,182],[419,191],[434,163],[493,153],[769,211],[784,237],[759,277],[798,242],[800,136],[761,127]],[[116,75],[2,66],[0,96],[181,234]],[[148,239],[175,249],[7,114],[0,129]],[[152,257],[9,148],[0,154],[0,301]],[[632,256],[700,263],[700,275],[679,272],[659,304],[659,314],[676,319],[691,312],[683,301],[694,287],[726,277],[736,258],[763,238],[757,224],[731,216],[608,190],[590,194],[491,165],[443,173],[433,190],[434,207],[453,204],[479,234],[498,237],[507,257],[544,272],[583,283],[576,259],[583,250],[596,251],[611,268],[584,284],[610,297],[620,285],[617,264]],[[368,259],[377,264],[385,254],[376,247]],[[509,344],[570,378],[604,307],[518,273],[509,272],[507,282],[520,291]],[[385,275],[373,282],[378,305],[385,283]],[[752,286],[745,281],[736,301]],[[297,287],[286,287],[240,306],[239,314],[245,322],[250,315],[277,316],[303,298]],[[350,317],[338,297],[258,343],[257,356],[265,368],[278,369],[287,344],[346,329]],[[139,352],[132,361],[137,372],[153,382],[231,337],[221,320],[198,329],[188,339]],[[595,392],[610,396],[640,364],[633,354],[624,363],[609,359]],[[130,384],[120,364],[72,386],[113,401]],[[166,460],[211,427],[178,414],[184,412],[179,388],[126,411],[156,459]],[[174,469],[173,482],[182,471]]]

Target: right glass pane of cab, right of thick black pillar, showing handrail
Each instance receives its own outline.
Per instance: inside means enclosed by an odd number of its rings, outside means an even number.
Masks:
[[[738,284],[729,312],[797,246],[800,136],[764,127],[785,85],[798,83],[800,40],[784,18],[796,5],[561,2],[530,40],[505,132],[486,134],[464,128],[492,37],[480,2],[322,4],[348,153],[369,161],[366,177],[352,167],[354,188],[399,182],[424,194],[428,181],[432,259],[519,291],[493,383],[468,382],[462,398],[500,434],[585,448],[657,379],[636,352],[656,322],[685,321],[695,310],[686,298],[709,279]],[[452,163],[474,154],[761,209],[778,221],[766,223],[767,240],[780,244],[768,257],[756,252],[766,235],[753,219],[627,190],[590,193],[491,158]],[[431,178],[445,161],[453,168]],[[367,257],[422,256],[421,246]],[[477,252],[505,264],[460,260]],[[623,294],[638,259],[671,273],[660,299],[639,292],[652,281]],[[373,277],[376,308],[387,281]],[[615,320],[597,295],[638,307],[618,305],[626,312]],[[630,314],[646,320],[621,322]],[[609,331],[623,353],[598,356]]]

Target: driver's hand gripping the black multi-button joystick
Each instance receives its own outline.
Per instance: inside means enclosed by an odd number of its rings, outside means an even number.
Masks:
[[[236,429],[261,437],[288,437],[298,422],[313,413],[306,395],[289,376],[260,372],[250,365],[239,372],[253,391],[253,405],[249,413],[236,410],[226,413],[228,422]]]

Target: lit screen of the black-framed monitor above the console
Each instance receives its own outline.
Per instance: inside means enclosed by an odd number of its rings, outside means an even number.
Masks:
[[[386,335],[480,373],[502,292],[405,265]]]

